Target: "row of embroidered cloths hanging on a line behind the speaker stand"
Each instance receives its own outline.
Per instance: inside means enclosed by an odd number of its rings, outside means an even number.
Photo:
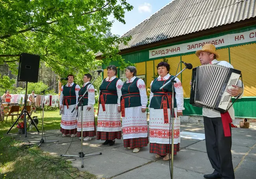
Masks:
[[[24,104],[24,94],[11,94],[11,103],[19,103],[19,104]],[[43,95],[37,95],[35,98],[35,105],[40,106],[42,101],[43,101]],[[27,97],[27,101],[28,97]],[[59,106],[59,95],[45,95],[45,105],[51,106],[51,107],[56,107]]]

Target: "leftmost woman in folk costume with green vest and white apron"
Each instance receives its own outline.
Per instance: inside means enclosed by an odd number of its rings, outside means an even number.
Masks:
[[[77,123],[77,110],[73,113],[71,111],[76,106],[78,100],[78,91],[80,86],[74,83],[74,75],[68,75],[67,85],[61,87],[61,94],[59,97],[59,109],[62,111],[60,131],[62,137],[71,135],[75,137],[76,135],[76,123]]]

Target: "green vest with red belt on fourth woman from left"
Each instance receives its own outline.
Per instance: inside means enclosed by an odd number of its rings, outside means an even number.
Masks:
[[[127,83],[126,81],[122,86],[121,100],[124,100],[125,108],[141,106],[141,96],[139,95],[139,89],[137,87],[138,80],[139,78],[135,78],[132,83]]]

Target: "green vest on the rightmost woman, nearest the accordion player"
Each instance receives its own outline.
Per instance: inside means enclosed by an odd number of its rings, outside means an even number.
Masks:
[[[157,78],[154,79],[152,85],[151,85],[151,92],[154,93],[154,96],[152,97],[150,101],[150,108],[154,109],[163,109],[163,100],[167,100],[167,108],[170,108],[170,104],[172,103],[170,95],[172,96],[172,83],[169,83],[167,86],[165,86],[162,90],[160,90],[160,87],[162,87],[165,83],[170,81],[171,78],[174,76],[171,75],[169,79],[158,81]],[[168,94],[168,96],[167,96]],[[175,98],[175,90],[174,90],[174,107],[177,107],[176,104],[176,98]]]

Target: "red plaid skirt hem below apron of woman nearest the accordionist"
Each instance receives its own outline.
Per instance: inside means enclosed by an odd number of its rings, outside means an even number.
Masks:
[[[156,153],[160,156],[165,156],[169,153],[170,148],[171,144],[149,143],[149,153]],[[173,144],[173,155],[177,155],[177,151],[180,151],[180,143]]]

